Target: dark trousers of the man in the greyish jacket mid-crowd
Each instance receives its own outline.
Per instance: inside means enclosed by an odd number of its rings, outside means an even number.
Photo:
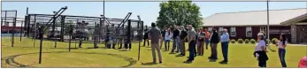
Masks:
[[[188,42],[188,52],[189,52],[188,61],[192,61],[196,57],[195,50],[196,50],[196,41]]]

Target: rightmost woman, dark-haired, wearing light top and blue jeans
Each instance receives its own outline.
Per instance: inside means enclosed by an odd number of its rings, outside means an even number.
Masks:
[[[280,57],[280,63],[282,67],[287,67],[286,61],[285,61],[285,55],[286,55],[286,46],[287,46],[287,37],[286,35],[280,35],[280,40],[276,41],[276,46],[278,46],[278,55]]]

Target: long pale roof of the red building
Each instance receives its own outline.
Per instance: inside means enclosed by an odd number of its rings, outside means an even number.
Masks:
[[[270,10],[270,25],[279,26],[281,22],[294,19],[307,13],[306,8]],[[215,13],[203,19],[204,27],[214,26],[264,26],[267,25],[267,11]]]

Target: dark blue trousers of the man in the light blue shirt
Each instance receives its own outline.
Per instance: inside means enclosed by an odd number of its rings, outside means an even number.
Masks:
[[[222,42],[222,53],[225,62],[228,62],[228,42]]]

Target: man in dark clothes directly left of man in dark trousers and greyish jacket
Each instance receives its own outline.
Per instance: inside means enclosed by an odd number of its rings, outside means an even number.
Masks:
[[[188,32],[183,26],[181,26],[180,29],[181,29],[181,32],[180,32],[180,55],[186,56],[186,45],[185,45],[185,43],[186,43]]]

